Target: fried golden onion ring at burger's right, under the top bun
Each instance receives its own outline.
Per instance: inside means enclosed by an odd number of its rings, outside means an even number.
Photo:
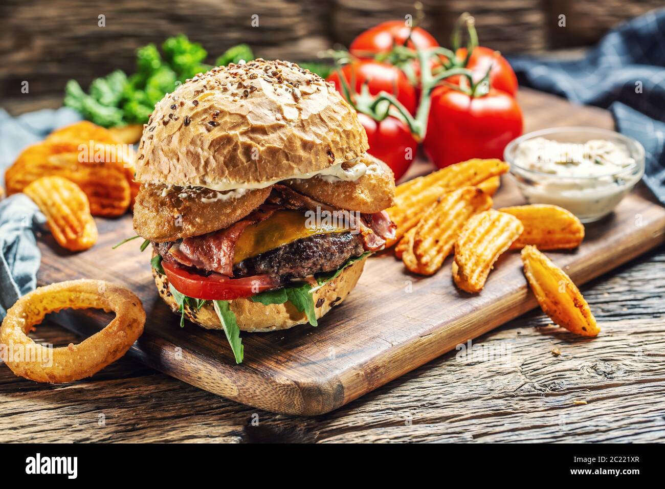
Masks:
[[[378,171],[364,174],[353,182],[327,182],[315,176],[307,180],[287,180],[285,184],[320,202],[339,209],[374,214],[394,205],[395,178],[390,167],[371,154],[360,159]]]

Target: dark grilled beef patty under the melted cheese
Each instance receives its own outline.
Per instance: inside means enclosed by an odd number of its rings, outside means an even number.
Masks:
[[[162,257],[168,259],[172,243],[153,243]],[[269,273],[281,279],[307,277],[314,273],[336,270],[350,257],[364,253],[358,234],[317,234],[296,240],[253,258],[241,261],[233,267],[233,277],[247,277]]]

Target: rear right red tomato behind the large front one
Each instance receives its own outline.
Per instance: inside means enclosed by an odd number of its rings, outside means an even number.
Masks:
[[[466,53],[466,47],[458,49],[458,59],[464,61]],[[469,58],[469,63],[466,66],[469,70],[473,71],[473,82],[477,83],[481,81],[492,63],[493,66],[489,72],[489,86],[515,96],[517,94],[517,76],[515,76],[515,72],[508,61],[498,51],[494,51],[488,47],[477,46],[473,48],[471,58]],[[457,79],[459,78],[450,77],[448,81],[458,83]]]

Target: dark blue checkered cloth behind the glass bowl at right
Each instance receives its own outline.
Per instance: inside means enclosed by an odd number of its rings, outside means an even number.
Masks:
[[[582,59],[509,62],[523,86],[609,108],[617,130],[644,146],[644,183],[665,205],[665,9],[619,25]]]

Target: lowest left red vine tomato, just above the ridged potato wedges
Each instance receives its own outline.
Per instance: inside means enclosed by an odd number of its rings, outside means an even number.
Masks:
[[[360,124],[367,132],[370,143],[368,153],[385,162],[399,180],[416,158],[418,143],[406,124],[388,116],[377,122],[367,114],[358,114]]]

